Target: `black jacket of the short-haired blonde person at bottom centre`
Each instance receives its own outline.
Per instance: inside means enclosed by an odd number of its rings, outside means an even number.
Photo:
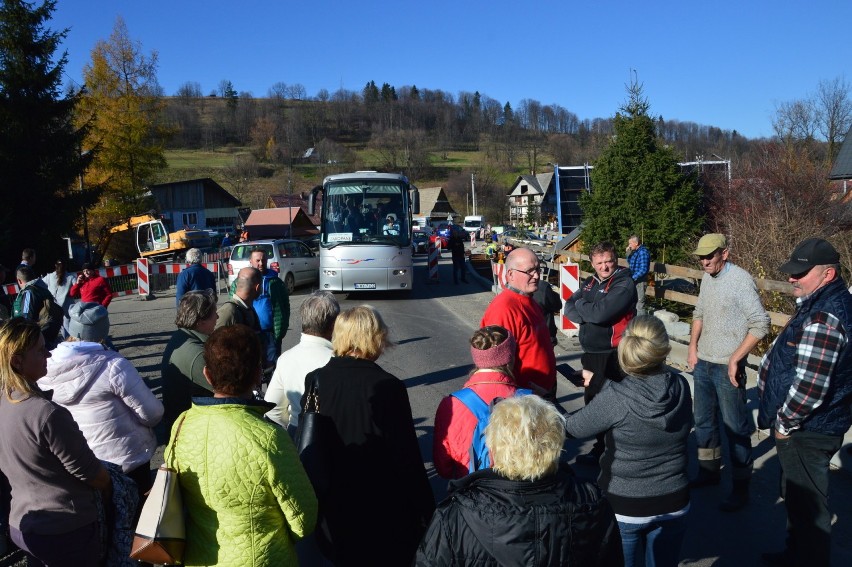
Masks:
[[[415,565],[624,565],[615,514],[568,465],[536,481],[483,469],[450,481]]]

